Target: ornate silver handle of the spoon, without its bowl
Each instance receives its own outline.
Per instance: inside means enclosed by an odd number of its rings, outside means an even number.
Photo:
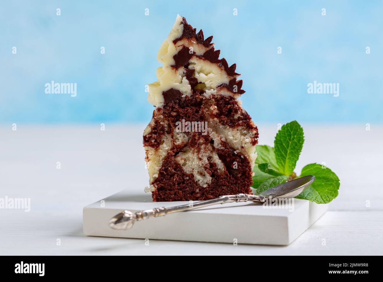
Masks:
[[[177,213],[179,211],[190,211],[191,209],[203,208],[206,206],[212,206],[214,204],[225,204],[233,202],[262,202],[263,196],[257,195],[247,195],[247,194],[236,194],[236,195],[226,195],[219,198],[199,201],[194,203],[190,201],[189,204],[184,204],[181,206],[173,206],[170,208],[160,207],[154,209],[147,209],[146,211],[136,211],[132,213],[131,211],[121,211],[121,213],[116,214],[110,221],[109,226],[113,229],[128,229],[133,226],[136,221],[143,219],[165,216],[169,213]]]

